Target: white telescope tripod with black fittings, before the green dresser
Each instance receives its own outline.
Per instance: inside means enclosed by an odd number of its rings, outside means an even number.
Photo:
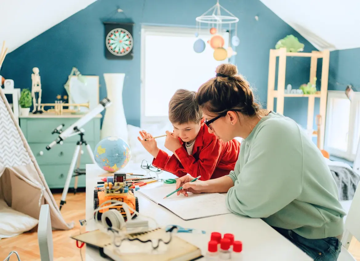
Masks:
[[[89,153],[89,156],[92,159],[93,163],[96,164],[94,154],[93,154],[93,150],[91,150],[90,144],[88,144],[86,142],[86,140],[84,139],[84,135],[85,135],[84,134],[84,132],[85,132],[84,129],[79,130],[77,127],[74,127],[74,130],[76,132],[75,134],[80,135],[80,140],[77,141],[76,147],[75,147],[75,152],[74,152],[74,155],[72,156],[69,172],[67,174],[66,181],[65,181],[63,194],[61,196],[60,210],[61,210],[62,206],[66,203],[66,195],[67,195],[68,190],[69,190],[71,178],[75,177],[75,185],[74,185],[74,194],[75,194],[76,190],[77,190],[78,176],[79,175],[85,175],[85,171],[80,170],[80,154],[81,154],[80,151],[81,151],[82,145],[85,145],[85,147],[87,149],[87,153]],[[77,162],[77,168],[76,168],[76,171],[75,171],[76,162]],[[73,175],[74,172],[76,173],[75,175]]]

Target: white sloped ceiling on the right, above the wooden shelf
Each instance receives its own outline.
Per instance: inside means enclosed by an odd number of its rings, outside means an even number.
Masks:
[[[360,47],[359,0],[260,1],[319,50]]]

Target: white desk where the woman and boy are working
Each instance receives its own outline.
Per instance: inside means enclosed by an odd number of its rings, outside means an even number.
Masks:
[[[124,172],[131,170],[125,169]],[[144,170],[132,169],[133,173],[146,174]],[[94,187],[100,179],[98,175],[106,173],[98,166],[86,165],[86,219],[92,216],[94,207]],[[155,176],[155,173],[152,173]],[[167,172],[159,174],[160,178],[174,177]],[[174,186],[174,184],[163,184],[162,182],[154,182],[146,185],[148,188],[157,186]],[[141,187],[140,187],[141,189]],[[243,242],[243,260],[251,261],[310,261],[312,260],[289,240],[280,235],[271,226],[267,225],[261,219],[251,219],[234,214],[226,214],[220,216],[206,217],[203,219],[195,219],[185,221],[176,216],[166,208],[157,205],[144,197],[140,193],[135,192],[139,199],[139,213],[152,216],[157,220],[160,226],[180,225],[185,228],[195,228],[205,230],[206,234],[177,233],[176,235],[187,240],[188,242],[201,248],[202,254],[207,251],[207,243],[210,240],[212,231],[222,234],[233,233],[235,240]],[[153,221],[150,221],[153,223]],[[95,228],[94,218],[88,220],[86,230],[91,231]],[[86,247],[86,261],[108,260],[100,257],[99,249]],[[204,258],[201,258],[204,260]]]

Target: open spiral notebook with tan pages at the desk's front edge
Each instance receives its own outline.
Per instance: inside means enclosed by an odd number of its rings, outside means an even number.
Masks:
[[[111,235],[106,234],[100,230],[94,230],[80,235],[73,236],[80,242],[85,242],[89,246],[99,247],[100,253],[111,258],[114,261],[190,261],[196,260],[202,256],[201,249],[193,244],[190,244],[184,239],[177,237],[175,233],[167,233],[163,228],[157,228],[146,232],[128,234],[126,236],[130,240],[115,240],[116,247]],[[151,242],[143,243],[142,241],[151,240]],[[162,242],[158,243],[159,239]],[[163,242],[169,242],[165,244]],[[153,249],[152,246],[157,246]]]

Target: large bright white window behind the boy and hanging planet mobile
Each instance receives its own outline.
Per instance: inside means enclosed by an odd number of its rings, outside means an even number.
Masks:
[[[141,28],[141,126],[168,122],[168,103],[177,89],[197,91],[201,84],[215,76],[219,64],[207,43],[210,30],[201,30],[206,48],[193,49],[195,28],[143,26]],[[223,32],[226,49],[229,33]]]

